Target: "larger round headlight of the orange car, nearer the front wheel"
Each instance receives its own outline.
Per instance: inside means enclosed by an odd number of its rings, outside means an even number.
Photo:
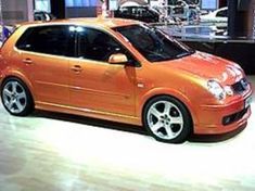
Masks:
[[[226,98],[226,91],[216,80],[208,80],[207,82],[208,91],[218,100],[224,100]]]

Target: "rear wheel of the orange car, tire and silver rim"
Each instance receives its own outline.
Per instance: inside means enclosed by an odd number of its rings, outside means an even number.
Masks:
[[[25,116],[34,109],[31,94],[18,78],[9,78],[3,82],[1,98],[3,106],[12,115]]]

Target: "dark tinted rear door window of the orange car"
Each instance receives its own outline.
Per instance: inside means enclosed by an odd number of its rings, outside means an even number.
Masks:
[[[75,55],[75,31],[71,26],[28,28],[18,39],[17,49],[53,55]]]

